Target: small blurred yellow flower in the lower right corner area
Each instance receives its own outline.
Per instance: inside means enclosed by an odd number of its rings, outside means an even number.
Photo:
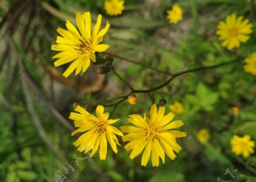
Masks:
[[[250,154],[254,153],[255,142],[250,140],[250,135],[244,135],[243,137],[238,137],[234,135],[230,140],[232,152],[234,154],[243,155],[243,158],[247,158]]]

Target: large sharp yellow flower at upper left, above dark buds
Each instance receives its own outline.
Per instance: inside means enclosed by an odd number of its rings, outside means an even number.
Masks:
[[[93,28],[91,34],[92,20],[90,18],[90,12],[84,14],[76,13],[76,23],[79,28],[76,27],[67,20],[67,30],[63,28],[57,28],[57,32],[61,36],[57,36],[55,45],[52,45],[53,51],[61,51],[53,58],[57,58],[55,61],[55,67],[70,63],[68,69],[63,73],[66,78],[76,69],[76,75],[81,71],[85,72],[89,65],[90,60],[96,62],[95,52],[104,52],[109,48],[106,44],[100,44],[103,36],[109,29],[110,24],[107,22],[105,28],[101,31],[101,15],[98,15],[97,22]]]

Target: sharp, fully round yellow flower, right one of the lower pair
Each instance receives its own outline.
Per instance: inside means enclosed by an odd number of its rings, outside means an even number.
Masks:
[[[130,158],[134,159],[143,150],[141,165],[146,166],[151,155],[152,166],[159,166],[159,156],[164,163],[165,154],[175,159],[175,152],[179,152],[181,147],[176,143],[176,138],[186,137],[187,133],[171,130],[183,126],[182,121],[172,121],[175,117],[174,113],[164,115],[164,107],[156,109],[156,105],[152,105],[150,110],[150,118],[144,114],[144,118],[140,115],[129,115],[128,122],[135,126],[122,126],[121,130],[129,133],[122,137],[123,141],[130,141],[126,144],[125,149],[131,151]],[[165,154],[164,154],[165,153]]]

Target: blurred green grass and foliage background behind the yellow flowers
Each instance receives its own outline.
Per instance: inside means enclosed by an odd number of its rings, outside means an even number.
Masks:
[[[166,11],[175,3],[183,19],[171,24]],[[62,73],[67,65],[55,68],[56,52],[51,51],[57,27],[65,28],[66,19],[76,24],[76,11],[90,11],[93,22],[102,14],[102,24],[111,24],[104,43],[110,45],[108,53],[118,56],[115,70],[134,88],[148,89],[170,75],[131,61],[175,74],[255,51],[255,32],[235,51],[222,47],[216,35],[217,24],[232,13],[256,27],[254,3],[127,0],[121,15],[109,16],[103,0],[1,0],[0,181],[256,181],[256,155],[243,159],[230,148],[234,134],[256,140],[255,76],[244,72],[242,61],[182,75],[151,93],[156,103],[167,101],[167,111],[175,111],[170,106],[179,102],[183,109],[176,110],[175,120],[183,120],[181,130],[188,135],[178,140],[183,149],[175,160],[166,159],[166,164],[153,168],[141,166],[141,155],[129,159],[123,142],[117,155],[109,148],[105,161],[77,151],[72,144],[77,136],[71,137],[74,128],[68,119],[73,105],[105,104],[130,90],[113,73],[98,75],[97,65],[66,79]],[[137,105],[118,105],[112,118],[121,120],[115,126],[126,125],[129,114],[148,114],[150,98],[137,94],[137,99]],[[197,139],[201,129],[210,135],[205,143]]]

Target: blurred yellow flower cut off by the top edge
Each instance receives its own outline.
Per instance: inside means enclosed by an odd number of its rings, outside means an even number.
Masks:
[[[121,15],[123,9],[125,9],[124,3],[123,0],[105,0],[104,9],[106,14],[111,16]]]

